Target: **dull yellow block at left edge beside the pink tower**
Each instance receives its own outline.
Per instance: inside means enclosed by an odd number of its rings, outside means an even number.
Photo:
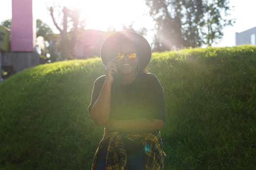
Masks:
[[[9,51],[10,29],[0,25],[0,51]]]

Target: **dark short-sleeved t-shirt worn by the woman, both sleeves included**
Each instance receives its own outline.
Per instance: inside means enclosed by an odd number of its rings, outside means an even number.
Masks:
[[[98,99],[105,76],[94,82],[91,107]],[[113,119],[163,119],[165,121],[165,97],[156,75],[142,73],[129,85],[113,82],[111,87],[110,118]]]

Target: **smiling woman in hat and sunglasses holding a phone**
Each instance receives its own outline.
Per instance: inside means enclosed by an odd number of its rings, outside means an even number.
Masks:
[[[105,130],[92,170],[162,170],[165,98],[158,78],[143,71],[149,43],[137,33],[117,32],[103,42],[100,56],[105,75],[94,83],[88,111]]]

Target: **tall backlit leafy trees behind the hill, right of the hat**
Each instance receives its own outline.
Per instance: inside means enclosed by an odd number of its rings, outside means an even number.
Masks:
[[[222,38],[229,0],[145,0],[156,22],[155,51],[172,48],[211,46]]]

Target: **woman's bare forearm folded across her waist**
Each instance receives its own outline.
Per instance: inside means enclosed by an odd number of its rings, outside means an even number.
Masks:
[[[107,130],[117,130],[130,133],[143,133],[158,131],[163,127],[163,124],[164,120],[162,119],[109,119],[105,127]]]

